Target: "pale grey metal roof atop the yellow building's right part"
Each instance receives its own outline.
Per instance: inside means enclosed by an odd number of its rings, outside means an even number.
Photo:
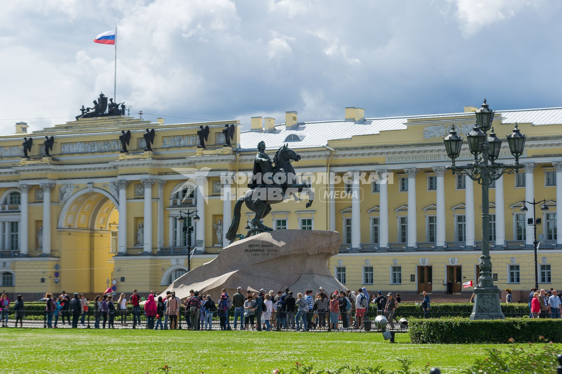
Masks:
[[[562,124],[562,107],[523,109],[523,110],[496,110],[501,114],[502,123],[532,123],[533,125]],[[255,149],[257,143],[265,141],[268,148],[278,148],[287,142],[291,134],[299,136],[301,141],[289,142],[297,147],[321,147],[333,139],[350,139],[356,135],[378,134],[385,130],[405,130],[408,119],[447,118],[459,116],[473,116],[474,112],[459,112],[431,115],[398,116],[385,118],[369,118],[361,123],[335,121],[316,121],[298,123],[292,128],[285,128],[284,124],[275,125],[275,130],[270,132],[243,132],[241,133],[241,148]],[[415,124],[415,122],[413,123]],[[562,133],[562,130],[561,130]]]

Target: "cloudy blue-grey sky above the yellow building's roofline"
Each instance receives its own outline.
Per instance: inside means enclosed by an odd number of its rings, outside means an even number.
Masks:
[[[112,97],[93,39],[115,25],[117,101],[166,123],[562,106],[560,19],[541,0],[3,2],[0,134]]]

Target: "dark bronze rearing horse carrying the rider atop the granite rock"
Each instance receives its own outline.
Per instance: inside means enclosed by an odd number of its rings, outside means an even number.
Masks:
[[[250,229],[246,236],[251,236],[258,232],[273,231],[273,228],[265,226],[261,223],[261,220],[271,211],[271,204],[282,202],[291,195],[294,196],[296,192],[305,190],[308,192],[309,201],[306,203],[306,208],[310,208],[312,201],[314,201],[314,192],[307,184],[298,183],[296,172],[291,164],[291,161],[298,161],[300,159],[301,156],[286,144],[277,150],[273,157],[273,163],[275,164],[274,172],[257,175],[257,180],[260,183],[251,190],[248,190],[244,196],[239,197],[234,204],[234,217],[228,232],[226,232],[226,238],[230,242],[235,238],[244,237],[244,235],[237,233],[240,224],[240,210],[243,203],[246,203],[247,208],[256,213],[251,219],[251,223],[255,227]],[[255,177],[255,175],[252,175],[252,178]],[[295,200],[297,199],[295,198]]]

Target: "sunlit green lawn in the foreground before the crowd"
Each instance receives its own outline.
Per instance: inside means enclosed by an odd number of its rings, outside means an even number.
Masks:
[[[375,333],[1,328],[0,372],[152,374],[169,364],[171,374],[261,374],[296,361],[315,368],[391,369],[407,357],[414,368],[429,363],[454,373],[492,346],[414,345],[407,334],[396,340],[389,344]]]

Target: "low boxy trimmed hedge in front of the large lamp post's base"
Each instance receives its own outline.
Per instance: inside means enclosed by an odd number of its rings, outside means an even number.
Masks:
[[[543,336],[562,343],[562,320],[550,318],[413,318],[408,321],[412,343],[467,344],[539,341]]]

